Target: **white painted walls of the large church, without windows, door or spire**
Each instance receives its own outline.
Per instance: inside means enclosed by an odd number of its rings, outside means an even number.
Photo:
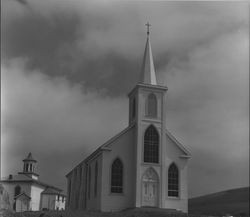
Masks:
[[[154,92],[157,97],[156,118],[146,116],[147,96]],[[187,159],[180,158],[183,151],[166,135],[166,89],[139,87],[130,94],[130,102],[136,98],[136,117],[129,115],[130,126],[126,133],[114,140],[107,148],[110,151],[102,151],[98,156],[82,162],[68,174],[68,202],[67,207],[71,209],[89,209],[102,211],[116,211],[129,207],[141,207],[142,201],[142,176],[147,169],[153,168],[159,177],[159,204],[158,207],[178,209],[187,212]],[[131,105],[130,105],[131,112]],[[159,163],[144,163],[144,133],[153,124],[158,131],[160,138]],[[110,192],[111,165],[119,157],[124,166],[124,192],[114,194]],[[94,196],[94,168],[98,162],[98,194]],[[168,167],[171,163],[179,168],[179,197],[168,197]],[[91,168],[91,195],[88,198],[87,168]],[[101,167],[100,167],[101,166]],[[82,177],[79,177],[79,167],[82,167]],[[69,188],[71,186],[71,193]],[[87,197],[86,197],[87,196]],[[77,199],[78,198],[78,199]],[[79,204],[78,204],[79,203]],[[86,206],[85,206],[86,205]]]

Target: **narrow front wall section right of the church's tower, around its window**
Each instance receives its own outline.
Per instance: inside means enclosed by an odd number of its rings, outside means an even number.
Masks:
[[[187,191],[187,159],[180,158],[183,155],[181,151],[172,140],[166,137],[166,197],[165,197],[165,208],[173,208],[188,212],[188,191]],[[175,163],[179,169],[179,197],[171,198],[168,197],[168,168],[171,163]]]

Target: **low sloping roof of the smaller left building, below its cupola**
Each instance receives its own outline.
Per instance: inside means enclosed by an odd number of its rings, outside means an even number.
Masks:
[[[53,189],[58,190],[60,192],[62,191],[62,189],[60,189],[60,188],[57,188],[55,186],[46,184],[46,183],[41,182],[41,181],[36,180],[36,179],[32,179],[31,177],[29,177],[28,175],[25,175],[23,173],[19,173],[18,175],[12,175],[12,176],[9,176],[9,177],[6,177],[6,178],[2,178],[0,180],[0,182],[9,182],[9,183],[12,183],[12,182],[28,182],[28,183],[37,184],[37,185],[40,185],[40,186],[43,186],[43,187],[50,187],[50,188],[53,188]]]

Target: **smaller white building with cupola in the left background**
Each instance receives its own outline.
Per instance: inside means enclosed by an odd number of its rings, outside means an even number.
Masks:
[[[23,160],[23,171],[0,180],[1,208],[15,212],[64,210],[66,196],[60,188],[39,180],[32,154]]]

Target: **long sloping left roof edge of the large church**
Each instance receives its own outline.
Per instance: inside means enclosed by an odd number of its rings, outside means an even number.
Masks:
[[[114,142],[115,140],[117,140],[119,137],[121,137],[123,134],[127,133],[131,128],[133,128],[135,125],[132,124],[128,127],[126,127],[123,131],[121,131],[120,133],[116,134],[115,136],[113,136],[111,139],[109,139],[107,142],[105,142],[104,144],[102,144],[101,146],[99,146],[99,148],[97,148],[94,152],[92,152],[88,157],[86,157],[83,161],[81,161],[79,164],[77,164],[77,166],[75,166],[70,172],[68,172],[66,174],[66,177],[76,168],[78,167],[80,164],[87,162],[88,160],[90,160],[91,158],[93,158],[94,156],[96,156],[98,153],[100,153],[101,151],[111,151],[111,149],[108,147],[112,142]]]

